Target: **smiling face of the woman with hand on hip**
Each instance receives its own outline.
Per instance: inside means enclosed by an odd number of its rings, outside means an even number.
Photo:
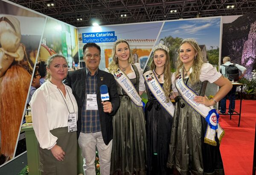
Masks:
[[[195,49],[188,42],[185,42],[180,46],[179,58],[184,65],[192,65],[196,55],[197,53]]]

